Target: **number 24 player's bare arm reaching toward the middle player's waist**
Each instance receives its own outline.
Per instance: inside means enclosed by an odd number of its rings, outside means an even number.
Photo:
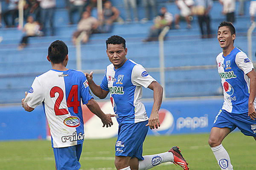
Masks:
[[[111,127],[111,125],[113,125],[111,117],[116,116],[115,114],[103,113],[103,111],[99,107],[99,104],[94,99],[90,99],[86,105],[91,112],[93,112],[96,116],[98,116],[102,120],[102,123],[103,123],[102,127],[105,127],[105,125],[106,127],[108,126]]]

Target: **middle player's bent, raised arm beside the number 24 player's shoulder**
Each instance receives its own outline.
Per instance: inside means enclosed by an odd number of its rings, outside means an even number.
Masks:
[[[106,96],[108,95],[109,91],[103,90],[99,85],[96,85],[95,82],[93,81],[93,71],[89,73],[85,73],[85,76],[88,81],[88,85],[93,92],[93,94],[100,99],[105,99]]]

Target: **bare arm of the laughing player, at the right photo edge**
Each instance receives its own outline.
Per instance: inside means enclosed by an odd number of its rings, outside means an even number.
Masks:
[[[250,116],[251,119],[256,119],[256,111],[255,107],[253,105],[255,96],[256,96],[256,72],[253,69],[249,73],[246,74],[250,78],[250,96],[248,101],[248,116]]]

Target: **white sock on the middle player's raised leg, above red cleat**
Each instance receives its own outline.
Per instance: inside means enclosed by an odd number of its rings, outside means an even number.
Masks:
[[[172,152],[158,153],[155,155],[146,155],[143,156],[143,158],[144,160],[139,161],[139,170],[148,170],[163,162],[174,161]]]

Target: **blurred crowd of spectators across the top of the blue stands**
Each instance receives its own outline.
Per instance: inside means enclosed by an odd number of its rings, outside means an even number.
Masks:
[[[234,23],[236,21],[236,1],[238,0],[218,1],[223,6],[222,14],[226,15],[226,20]],[[237,12],[239,15],[244,15],[245,1],[239,0],[239,11]],[[49,23],[48,32],[50,35],[55,35],[54,13],[56,0],[22,0],[22,2],[24,20],[28,24],[30,23],[29,29],[23,29],[25,32],[24,37],[47,35],[46,23]],[[148,20],[154,20],[154,25],[149,29],[147,39],[143,41],[154,41],[157,40],[156,37],[165,26],[169,26],[171,29],[180,29],[180,20],[186,22],[186,28],[192,28],[191,22],[195,17],[198,18],[201,37],[211,37],[211,17],[209,12],[211,11],[213,0],[166,0],[166,2],[175,3],[179,13],[172,14],[172,11],[167,11],[165,6],[158,6],[157,0],[122,0],[122,4],[126,9],[126,17],[121,18],[119,9],[112,5],[111,0],[102,0],[103,10],[102,13],[98,13],[96,18],[91,16],[91,12],[93,8],[96,8],[97,0],[65,0],[69,24],[77,24],[77,30],[73,33],[72,41],[76,44],[76,38],[82,32],[85,34],[82,39],[84,43],[89,40],[90,34],[109,33],[112,31],[113,22],[129,24],[145,23]],[[20,0],[0,0],[0,27],[2,26],[1,19],[3,19],[6,28],[17,26],[18,3],[20,3]],[[144,17],[139,16],[138,5],[144,8]],[[160,8],[159,11],[157,10],[158,8]],[[131,14],[131,11],[133,11],[133,14]],[[254,20],[256,0],[250,1],[249,12],[251,20]],[[78,13],[78,20],[75,20],[74,13]],[[33,24],[31,24],[32,19]],[[36,28],[32,29],[32,25]],[[38,31],[40,31],[40,34]],[[24,40],[24,37],[20,42],[20,48],[25,47],[28,43],[27,38]]]

